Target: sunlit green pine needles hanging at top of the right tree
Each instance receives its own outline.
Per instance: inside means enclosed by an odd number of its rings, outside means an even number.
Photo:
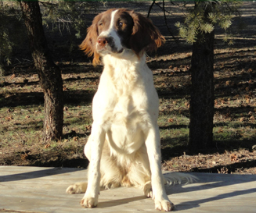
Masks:
[[[184,23],[178,22],[175,26],[179,35],[190,44],[197,41],[198,33],[209,34],[216,25],[225,30],[224,41],[228,41],[227,30],[232,25],[233,16],[239,15],[239,5],[237,0],[195,1],[195,7],[188,9]]]

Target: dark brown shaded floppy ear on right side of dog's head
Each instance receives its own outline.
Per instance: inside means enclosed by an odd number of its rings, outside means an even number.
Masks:
[[[156,51],[164,44],[164,37],[151,20],[134,11],[130,12],[130,16],[134,22],[130,46],[136,55],[141,51]]]

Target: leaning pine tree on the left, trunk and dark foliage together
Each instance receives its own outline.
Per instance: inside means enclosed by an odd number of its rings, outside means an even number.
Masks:
[[[39,3],[43,11],[42,13]],[[17,5],[20,5],[20,8],[16,7]],[[5,61],[5,63],[10,63],[10,55],[13,50],[13,42],[10,39],[9,23],[7,20],[9,20],[12,14],[13,19],[19,20],[19,23],[17,22],[18,26],[16,27],[13,27],[12,23],[12,30],[13,28],[23,30],[21,27],[23,24],[20,23],[20,20],[22,21],[22,19],[20,19],[21,9],[23,20],[27,28],[34,66],[38,71],[41,88],[45,96],[44,130],[41,138],[44,143],[49,143],[50,140],[59,140],[62,137],[63,81],[61,79],[60,70],[52,61],[52,55],[49,53],[50,51],[45,38],[43,24],[46,27],[49,27],[50,24],[53,30],[59,31],[59,36],[62,36],[63,30],[67,30],[70,35],[74,34],[75,37],[80,37],[81,30],[85,29],[84,16],[86,11],[89,9],[92,10],[93,5],[96,4],[92,4],[92,2],[66,0],[43,0],[41,2],[37,0],[18,0],[18,2],[12,2],[12,4],[2,2],[2,5],[0,5],[0,80],[3,72],[1,62]],[[8,19],[5,19],[5,17],[8,17]],[[74,33],[74,31],[76,33]],[[23,36],[20,32],[17,32],[16,35],[17,37]],[[16,40],[16,37],[14,40]],[[77,47],[77,45],[73,45],[73,43],[70,42],[70,49],[75,46]]]

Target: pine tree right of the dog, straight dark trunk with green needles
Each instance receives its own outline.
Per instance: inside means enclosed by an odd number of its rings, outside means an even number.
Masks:
[[[191,59],[192,90],[190,101],[189,148],[200,151],[215,147],[213,141],[214,96],[214,42],[215,25],[227,30],[237,12],[235,0],[208,0],[194,2],[194,8],[184,23],[176,23],[179,34],[193,44]],[[224,40],[227,41],[225,36]]]

